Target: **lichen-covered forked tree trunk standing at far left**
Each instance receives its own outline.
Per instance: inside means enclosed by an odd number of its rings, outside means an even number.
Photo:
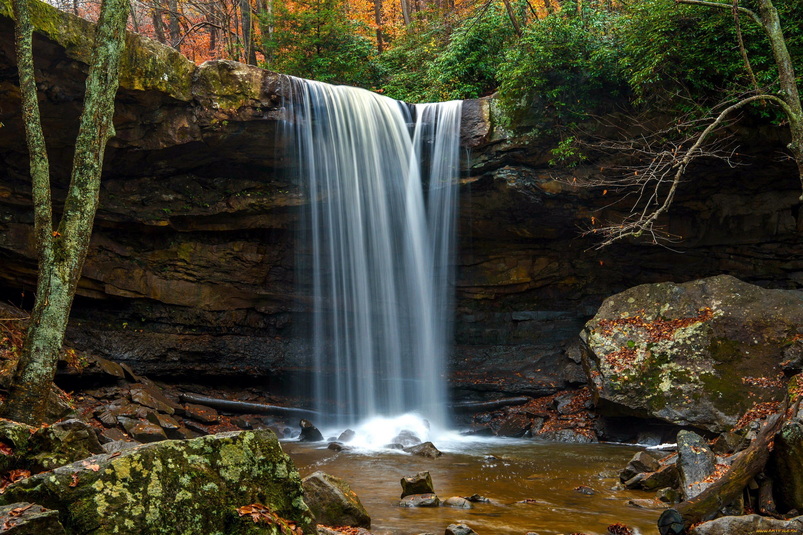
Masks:
[[[92,235],[106,141],[114,135],[112,115],[120,55],[125,46],[128,1],[103,0],[100,4],[70,187],[55,231],[51,221],[47,153],[36,100],[27,2],[14,0],[14,17],[23,119],[31,153],[39,283],[17,372],[3,411],[6,418],[39,425]]]

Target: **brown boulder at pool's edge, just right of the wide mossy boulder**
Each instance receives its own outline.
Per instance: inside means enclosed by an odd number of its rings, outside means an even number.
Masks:
[[[302,485],[304,503],[318,524],[371,528],[371,517],[344,480],[324,472],[314,472],[304,478]]]

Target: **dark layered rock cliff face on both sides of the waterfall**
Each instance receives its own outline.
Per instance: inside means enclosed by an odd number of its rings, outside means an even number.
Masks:
[[[35,288],[27,155],[10,9],[0,0],[0,292],[30,306]],[[92,24],[36,5],[35,57],[56,210],[71,169]],[[71,344],[162,376],[308,371],[303,288],[293,278],[296,207],[284,172],[293,120],[287,79],[241,63],[195,67],[128,35]],[[601,301],[636,284],[727,273],[764,286],[803,284],[793,165],[780,130],[734,126],[743,163],[701,162],[666,224],[671,248],[593,249],[578,227],[615,199],[557,182],[554,141],[495,125],[491,100],[467,101],[471,149],[460,208],[457,345],[461,398],[549,394],[567,380],[565,349]],[[615,206],[614,208],[615,209]],[[612,210],[612,208],[605,208]],[[569,366],[571,368],[571,366]]]

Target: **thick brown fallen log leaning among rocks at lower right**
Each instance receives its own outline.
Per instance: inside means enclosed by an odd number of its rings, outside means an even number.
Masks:
[[[798,397],[793,414],[797,414],[800,402],[801,398]],[[748,482],[764,470],[764,465],[769,459],[769,443],[786,421],[788,406],[789,398],[786,398],[781,411],[768,417],[756,439],[750,447],[740,453],[738,459],[733,461],[724,476],[691,500],[661,513],[661,517],[658,517],[658,533],[661,535],[686,533],[692,524],[712,520],[719,509],[739,497]]]

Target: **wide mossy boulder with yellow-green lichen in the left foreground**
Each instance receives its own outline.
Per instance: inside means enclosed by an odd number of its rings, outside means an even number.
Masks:
[[[75,486],[71,486],[74,484]],[[239,517],[264,504],[309,535],[316,525],[301,478],[271,431],[165,440],[94,455],[11,485],[0,503],[57,509],[68,535],[275,535]]]

